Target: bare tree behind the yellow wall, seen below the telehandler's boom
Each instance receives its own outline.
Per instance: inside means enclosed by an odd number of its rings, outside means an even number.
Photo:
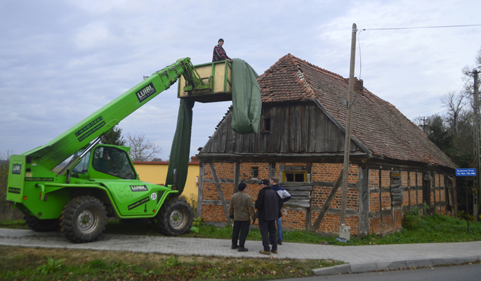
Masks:
[[[145,138],[143,133],[140,135],[137,135],[137,133],[133,135],[127,133],[126,138],[126,145],[131,148],[129,155],[132,161],[152,161],[152,159],[157,157],[157,154],[162,152],[162,148],[159,148],[155,143]]]

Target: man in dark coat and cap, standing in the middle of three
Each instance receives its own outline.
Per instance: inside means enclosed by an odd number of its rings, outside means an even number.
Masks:
[[[279,218],[279,211],[282,208],[282,199],[277,192],[270,188],[269,180],[261,181],[262,189],[256,200],[256,209],[258,210],[259,230],[262,235],[263,250],[259,251],[261,254],[269,255],[270,252],[277,254],[277,235],[275,231],[275,222]],[[272,249],[269,246],[272,243]]]

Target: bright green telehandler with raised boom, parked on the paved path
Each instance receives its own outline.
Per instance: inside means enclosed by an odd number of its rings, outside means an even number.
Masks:
[[[130,148],[100,144],[100,136],[183,76],[185,91],[211,87],[182,58],[147,77],[46,145],[12,155],[6,199],[25,214],[29,228],[60,226],[72,242],[95,240],[107,217],[151,220],[165,235],[182,235],[192,226],[190,204],[178,196],[183,188],[140,181]],[[61,171],[53,169],[67,159]],[[175,173],[175,171],[174,171]],[[176,178],[176,176],[174,176]]]

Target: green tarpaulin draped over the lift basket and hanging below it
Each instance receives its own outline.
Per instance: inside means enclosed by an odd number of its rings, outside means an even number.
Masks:
[[[244,60],[232,59],[232,129],[237,133],[257,133],[261,120],[261,89],[258,74]],[[189,169],[192,107],[194,101],[180,99],[177,129],[173,136],[166,185],[172,185],[173,170],[177,169],[177,190],[180,195],[187,181]]]

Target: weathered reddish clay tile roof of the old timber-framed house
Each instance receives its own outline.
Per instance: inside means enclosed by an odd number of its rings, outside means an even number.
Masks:
[[[349,79],[287,54],[258,78],[263,103],[317,99],[345,127]],[[421,129],[355,80],[352,136],[373,156],[456,168]],[[402,94],[402,93],[400,93]]]

